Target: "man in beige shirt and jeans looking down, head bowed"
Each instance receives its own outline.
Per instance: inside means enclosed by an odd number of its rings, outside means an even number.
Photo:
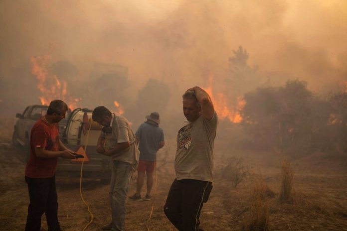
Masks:
[[[136,138],[128,120],[111,113],[104,106],[94,109],[92,119],[103,126],[97,152],[113,160],[110,183],[112,222],[102,230],[124,231],[129,183],[139,162]]]

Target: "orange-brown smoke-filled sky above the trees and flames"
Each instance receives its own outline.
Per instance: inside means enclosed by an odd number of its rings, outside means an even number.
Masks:
[[[132,95],[154,78],[177,102],[209,76],[218,86],[239,46],[260,83],[298,78],[327,93],[347,81],[345,0],[2,0],[0,30],[2,105],[39,95],[30,72],[37,55],[72,63],[80,81],[94,63],[125,66]]]

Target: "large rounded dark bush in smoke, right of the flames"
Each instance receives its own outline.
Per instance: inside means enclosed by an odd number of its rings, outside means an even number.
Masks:
[[[292,156],[313,150],[316,134],[329,118],[329,104],[299,80],[287,81],[284,87],[258,88],[244,98],[243,125],[252,134],[253,142]]]

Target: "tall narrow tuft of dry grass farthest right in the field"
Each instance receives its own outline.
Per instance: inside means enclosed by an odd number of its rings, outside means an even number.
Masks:
[[[294,171],[288,161],[282,163],[282,184],[280,192],[281,202],[292,202],[292,188],[293,188]]]

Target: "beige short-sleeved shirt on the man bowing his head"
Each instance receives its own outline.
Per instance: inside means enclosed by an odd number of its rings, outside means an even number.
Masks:
[[[139,149],[136,146],[136,139],[128,120],[121,115],[112,115],[111,133],[101,131],[101,137],[104,137],[105,148],[114,148],[117,143],[130,142],[130,146],[121,152],[111,156],[112,160],[122,161],[131,165],[137,165],[139,162]]]

